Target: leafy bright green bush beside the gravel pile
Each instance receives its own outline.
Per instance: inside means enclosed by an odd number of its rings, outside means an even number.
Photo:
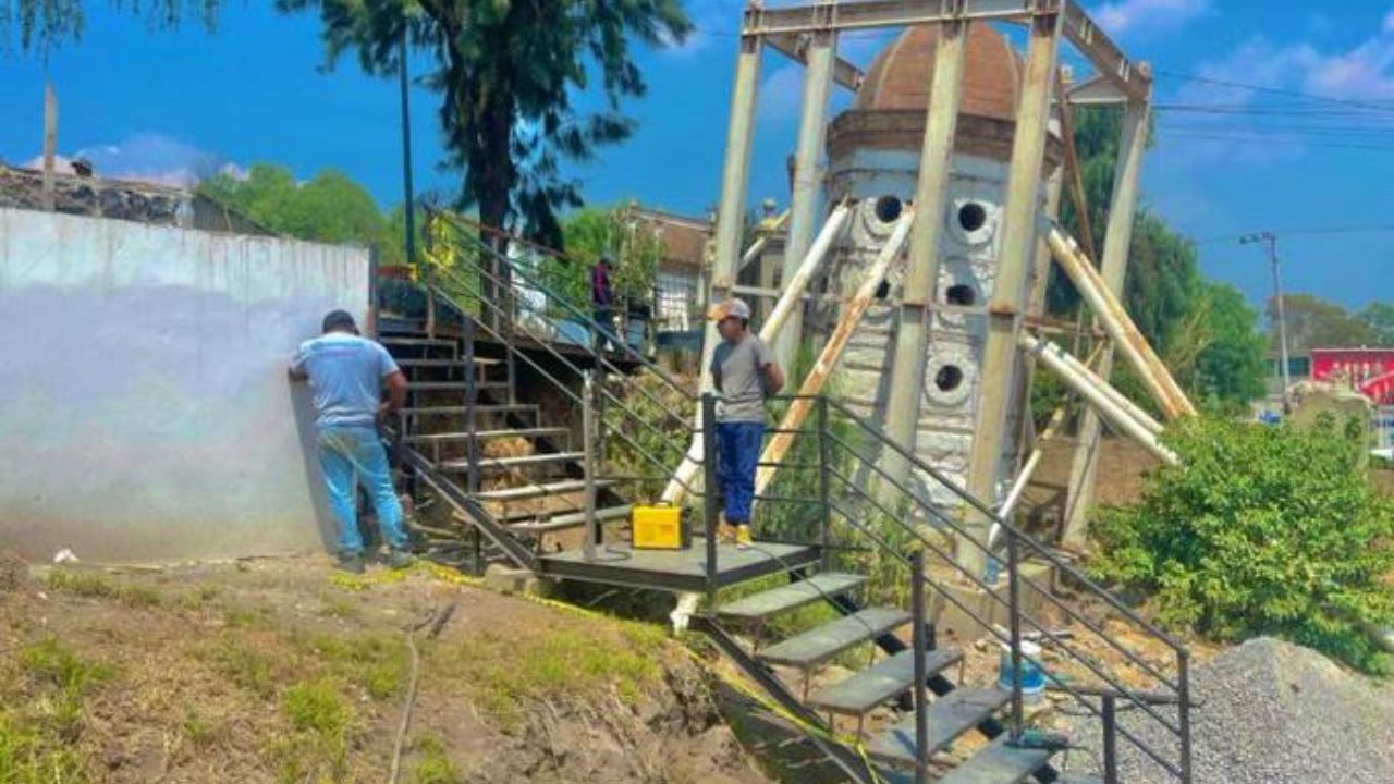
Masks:
[[[1362,444],[1309,430],[1196,420],[1168,431],[1181,456],[1133,506],[1094,527],[1096,573],[1154,594],[1163,622],[1223,640],[1287,638],[1390,671],[1362,626],[1394,619],[1394,502],[1359,466]]]

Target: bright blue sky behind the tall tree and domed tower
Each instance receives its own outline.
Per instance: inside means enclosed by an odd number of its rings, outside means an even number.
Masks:
[[[362,75],[351,57],[325,73],[315,17],[229,3],[215,33],[156,32],[106,3],[89,6],[79,43],[47,60],[0,56],[0,159],[24,163],[39,152],[42,85],[52,78],[60,152],[82,152],[110,176],[183,180],[272,160],[304,177],[336,167],[383,204],[400,201],[396,84]],[[576,170],[592,202],[637,197],[703,212],[717,201],[740,1],[687,6],[698,32],[640,56],[650,92],[627,105],[640,121],[636,137]],[[1262,301],[1267,266],[1234,234],[1271,229],[1288,290],[1351,307],[1394,299],[1394,0],[1089,6],[1125,50],[1158,70],[1157,103],[1175,106],[1160,113],[1143,198],[1203,241],[1207,275]],[[882,40],[859,35],[842,50],[867,63]],[[418,187],[449,190],[454,176],[436,167],[434,96],[417,89],[413,100]],[[788,199],[783,160],[797,100],[799,70],[767,57],[756,199]],[[1296,232],[1354,226],[1386,229]]]

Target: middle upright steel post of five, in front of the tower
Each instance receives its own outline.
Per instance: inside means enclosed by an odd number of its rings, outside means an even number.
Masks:
[[[914,225],[910,227],[910,258],[901,299],[899,335],[891,364],[891,396],[885,407],[887,435],[914,451],[920,421],[920,396],[930,352],[930,312],[940,282],[940,237],[953,169],[953,137],[958,131],[963,96],[963,63],[969,22],[940,25],[934,50],[934,78],[930,106],[924,116],[920,172],[914,186]],[[884,449],[888,481],[881,483],[882,502],[895,498],[895,484],[905,485],[909,462],[894,449]],[[888,504],[889,505],[889,504]]]

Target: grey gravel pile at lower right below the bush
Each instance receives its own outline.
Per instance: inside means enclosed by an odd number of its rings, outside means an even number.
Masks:
[[[1203,704],[1190,711],[1195,781],[1199,784],[1390,784],[1394,783],[1394,685],[1341,670],[1324,656],[1262,638],[1225,651],[1192,672]],[[1174,710],[1158,710],[1175,718]],[[1073,737],[1101,749],[1098,720],[1078,718]],[[1138,710],[1119,724],[1174,755],[1172,735]],[[1163,784],[1156,763],[1118,739],[1121,780]],[[1094,771],[1087,752],[1071,753],[1071,770]]]

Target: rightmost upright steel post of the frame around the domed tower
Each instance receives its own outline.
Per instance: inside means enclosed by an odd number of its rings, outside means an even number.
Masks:
[[[1104,232],[1104,254],[1098,271],[1104,283],[1118,297],[1122,297],[1124,282],[1128,278],[1128,247],[1132,244],[1138,212],[1138,180],[1142,177],[1142,158],[1147,149],[1149,113],[1147,99],[1129,103],[1118,142],[1114,191],[1108,205],[1108,227]],[[1094,324],[1098,325],[1097,317]],[[1112,368],[1114,349],[1110,345],[1098,359],[1098,377],[1108,381]],[[1087,409],[1079,423],[1078,446],[1065,491],[1065,526],[1061,541],[1066,545],[1083,544],[1089,532],[1089,508],[1094,501],[1094,474],[1098,466],[1098,414]]]

